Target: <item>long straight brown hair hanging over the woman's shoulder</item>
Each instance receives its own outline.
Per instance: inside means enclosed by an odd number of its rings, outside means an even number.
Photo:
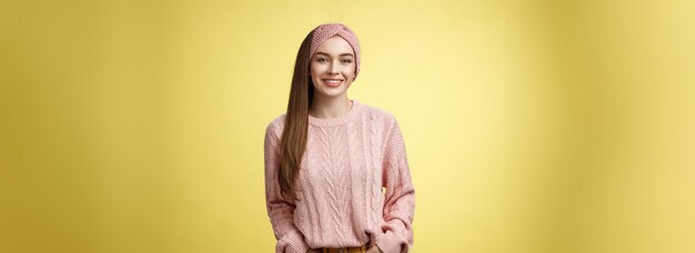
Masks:
[[[291,200],[299,200],[294,192],[294,182],[300,172],[302,156],[306,148],[309,132],[309,107],[313,100],[314,85],[311,81],[310,47],[314,36],[312,30],[306,34],[294,62],[294,75],[292,77],[292,88],[290,89],[290,102],[285,113],[284,130],[280,141],[280,168],[278,169],[278,182],[283,194]]]

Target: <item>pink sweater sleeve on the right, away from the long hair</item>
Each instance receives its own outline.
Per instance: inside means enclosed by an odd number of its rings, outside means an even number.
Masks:
[[[385,223],[376,245],[384,253],[404,253],[413,245],[415,189],[411,181],[403,135],[395,118],[392,118],[389,128],[383,163]]]

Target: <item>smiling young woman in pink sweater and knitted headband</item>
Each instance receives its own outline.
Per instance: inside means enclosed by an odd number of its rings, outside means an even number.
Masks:
[[[265,129],[276,252],[407,252],[415,190],[395,118],[348,98],[360,44],[341,23],[300,47],[286,113]]]

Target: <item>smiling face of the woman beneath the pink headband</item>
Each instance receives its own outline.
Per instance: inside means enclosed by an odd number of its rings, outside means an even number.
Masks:
[[[314,98],[344,95],[355,78],[355,55],[352,47],[338,36],[329,38],[316,48],[310,69]]]

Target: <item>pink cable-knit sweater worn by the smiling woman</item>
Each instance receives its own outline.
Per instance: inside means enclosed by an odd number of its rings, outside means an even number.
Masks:
[[[284,199],[278,183],[284,118],[268,125],[264,141],[265,198],[275,252],[367,242],[384,253],[407,252],[413,245],[415,190],[395,118],[356,100],[342,117],[310,115],[298,178],[300,201]]]

